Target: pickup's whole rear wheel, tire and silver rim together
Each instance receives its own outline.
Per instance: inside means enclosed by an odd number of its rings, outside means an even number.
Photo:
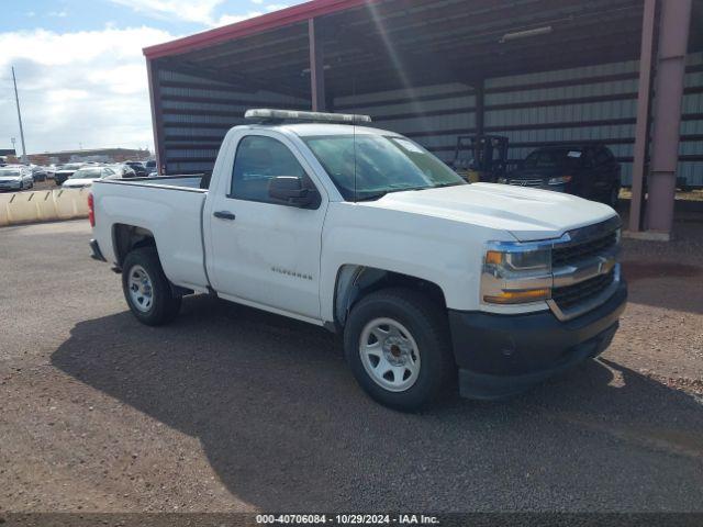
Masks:
[[[134,316],[147,326],[171,322],[180,311],[181,296],[174,294],[154,247],[135,249],[125,257],[122,290]]]

